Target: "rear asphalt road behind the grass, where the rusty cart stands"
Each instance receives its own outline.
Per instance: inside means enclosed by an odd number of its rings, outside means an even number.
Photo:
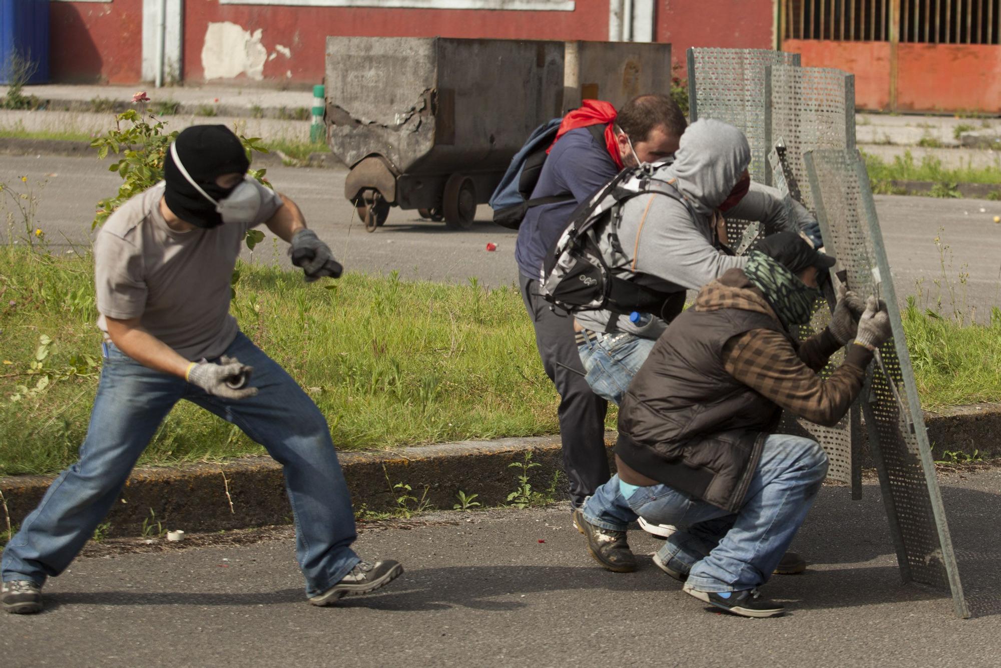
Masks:
[[[275,187],[300,205],[309,225],[330,243],[346,268],[397,270],[404,278],[452,282],[476,276],[486,285],[514,281],[517,234],[489,222],[487,207],[479,207],[473,227],[464,231],[451,231],[443,223],[420,220],[415,211],[394,208],[385,226],[368,234],[343,198],[345,173],[268,169]],[[45,183],[38,191],[37,222],[59,249],[69,248],[67,240],[87,241],[94,203],[114,192],[119,182],[96,158],[0,157],[0,182],[20,176],[27,176],[36,189]],[[1001,304],[1001,224],[993,222],[995,215],[1001,215],[1001,202],[878,195],[876,205],[902,302],[908,294],[920,295],[923,305],[948,315],[954,309],[970,312],[976,308],[978,319],[991,306]],[[5,232],[0,229],[0,235]],[[941,252],[936,237],[941,240]],[[495,251],[485,249],[488,241],[497,245]],[[269,241],[254,254],[257,261],[288,265],[284,248]],[[968,276],[962,278],[962,273]]]

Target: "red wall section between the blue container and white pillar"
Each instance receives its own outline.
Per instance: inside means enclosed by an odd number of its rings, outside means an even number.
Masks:
[[[52,81],[134,83],[142,78],[142,0],[53,2]]]

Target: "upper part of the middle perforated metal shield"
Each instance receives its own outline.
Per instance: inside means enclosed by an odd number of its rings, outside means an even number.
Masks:
[[[804,151],[855,148],[855,76],[838,69],[769,65],[765,72],[765,136],[781,139],[800,185],[800,202],[815,205]],[[773,183],[777,185],[777,183]]]

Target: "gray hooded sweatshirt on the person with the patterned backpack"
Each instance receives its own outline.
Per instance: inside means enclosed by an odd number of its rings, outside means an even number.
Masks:
[[[695,211],[662,194],[643,194],[629,199],[623,209],[619,240],[625,251],[613,260],[607,236],[600,243],[606,261],[625,265],[617,275],[653,274],[677,286],[679,291],[698,289],[728,269],[743,268],[747,257],[727,255],[715,245],[714,214],[729,196],[751,162],[751,148],[744,133],[733,125],[706,119],[693,123],[682,135],[675,161],[655,172],[657,178],[675,180]],[[727,217],[759,220],[768,233],[798,231],[813,221],[802,206],[795,220],[789,219],[785,200],[778,189],[752,183],[747,195],[727,211]],[[577,321],[593,331],[640,333],[629,317],[609,310],[582,310]],[[657,339],[664,326],[653,326],[642,336]]]

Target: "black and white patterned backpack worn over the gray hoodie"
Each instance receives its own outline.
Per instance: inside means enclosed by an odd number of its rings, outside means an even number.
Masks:
[[[657,168],[662,166],[666,165],[658,163]],[[650,192],[667,195],[685,204],[695,216],[691,203],[674,185],[674,179],[656,178],[655,171],[649,164],[624,169],[578,206],[546,256],[540,294],[547,301],[568,312],[640,311],[668,320],[681,312],[684,291],[650,274],[638,273],[630,278],[615,275],[627,264],[607,261],[600,246],[602,236],[607,236],[613,247],[613,260],[616,255],[625,259],[619,242],[623,204],[637,195]]]

